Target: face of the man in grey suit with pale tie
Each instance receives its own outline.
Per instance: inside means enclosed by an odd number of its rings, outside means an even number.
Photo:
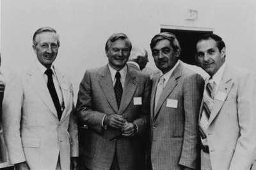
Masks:
[[[152,47],[152,56],[157,68],[163,73],[170,71],[177,63],[179,50],[174,50],[169,40],[159,40]]]

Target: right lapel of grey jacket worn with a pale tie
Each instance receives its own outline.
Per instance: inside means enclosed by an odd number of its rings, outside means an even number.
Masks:
[[[181,76],[181,72],[182,72],[182,65],[179,64],[179,65],[177,65],[177,67],[173,71],[170,79],[168,80],[166,86],[164,87],[164,89],[161,93],[161,96],[159,97],[159,100],[158,100],[157,105],[156,105],[156,112],[154,114],[155,119],[157,118],[157,116],[159,114],[159,110],[162,107],[164,101],[170,95],[170,93],[172,93],[175,86],[177,86],[178,79]]]

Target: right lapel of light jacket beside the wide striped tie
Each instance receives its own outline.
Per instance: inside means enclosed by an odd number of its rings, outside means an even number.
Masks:
[[[223,77],[220,82],[220,86],[218,88],[218,92],[216,93],[216,95],[218,95],[219,92],[223,92],[226,94],[226,98],[223,101],[221,101],[221,100],[217,99],[216,97],[214,97],[214,103],[212,105],[211,116],[209,118],[209,125],[212,123],[214,118],[216,118],[216,116],[220,112],[220,109],[223,106],[225,100],[227,100],[228,93],[230,92],[230,89],[232,88],[233,84],[234,84],[234,82],[232,81],[231,72],[228,69],[228,67],[226,67],[225,71],[223,73]]]

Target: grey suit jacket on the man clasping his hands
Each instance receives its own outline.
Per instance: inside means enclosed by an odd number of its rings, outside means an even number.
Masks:
[[[76,111],[81,120],[88,125],[84,137],[82,162],[89,169],[108,169],[116,150],[120,169],[143,169],[144,155],[141,150],[140,136],[147,128],[150,102],[150,79],[128,66],[124,92],[118,109],[113,82],[108,65],[87,70],[81,81]],[[134,97],[141,98],[141,104],[134,104]],[[117,141],[109,141],[117,135],[118,130],[102,128],[104,114],[122,114],[127,121],[138,126],[138,134],[134,137],[121,137]],[[115,148],[116,143],[116,148]]]

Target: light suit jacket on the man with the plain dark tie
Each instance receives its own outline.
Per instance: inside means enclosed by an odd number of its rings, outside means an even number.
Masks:
[[[62,169],[78,156],[73,89],[55,69],[65,109],[61,120],[37,65],[10,76],[3,100],[3,130],[12,164],[26,161],[30,169],[55,169],[60,154]]]

